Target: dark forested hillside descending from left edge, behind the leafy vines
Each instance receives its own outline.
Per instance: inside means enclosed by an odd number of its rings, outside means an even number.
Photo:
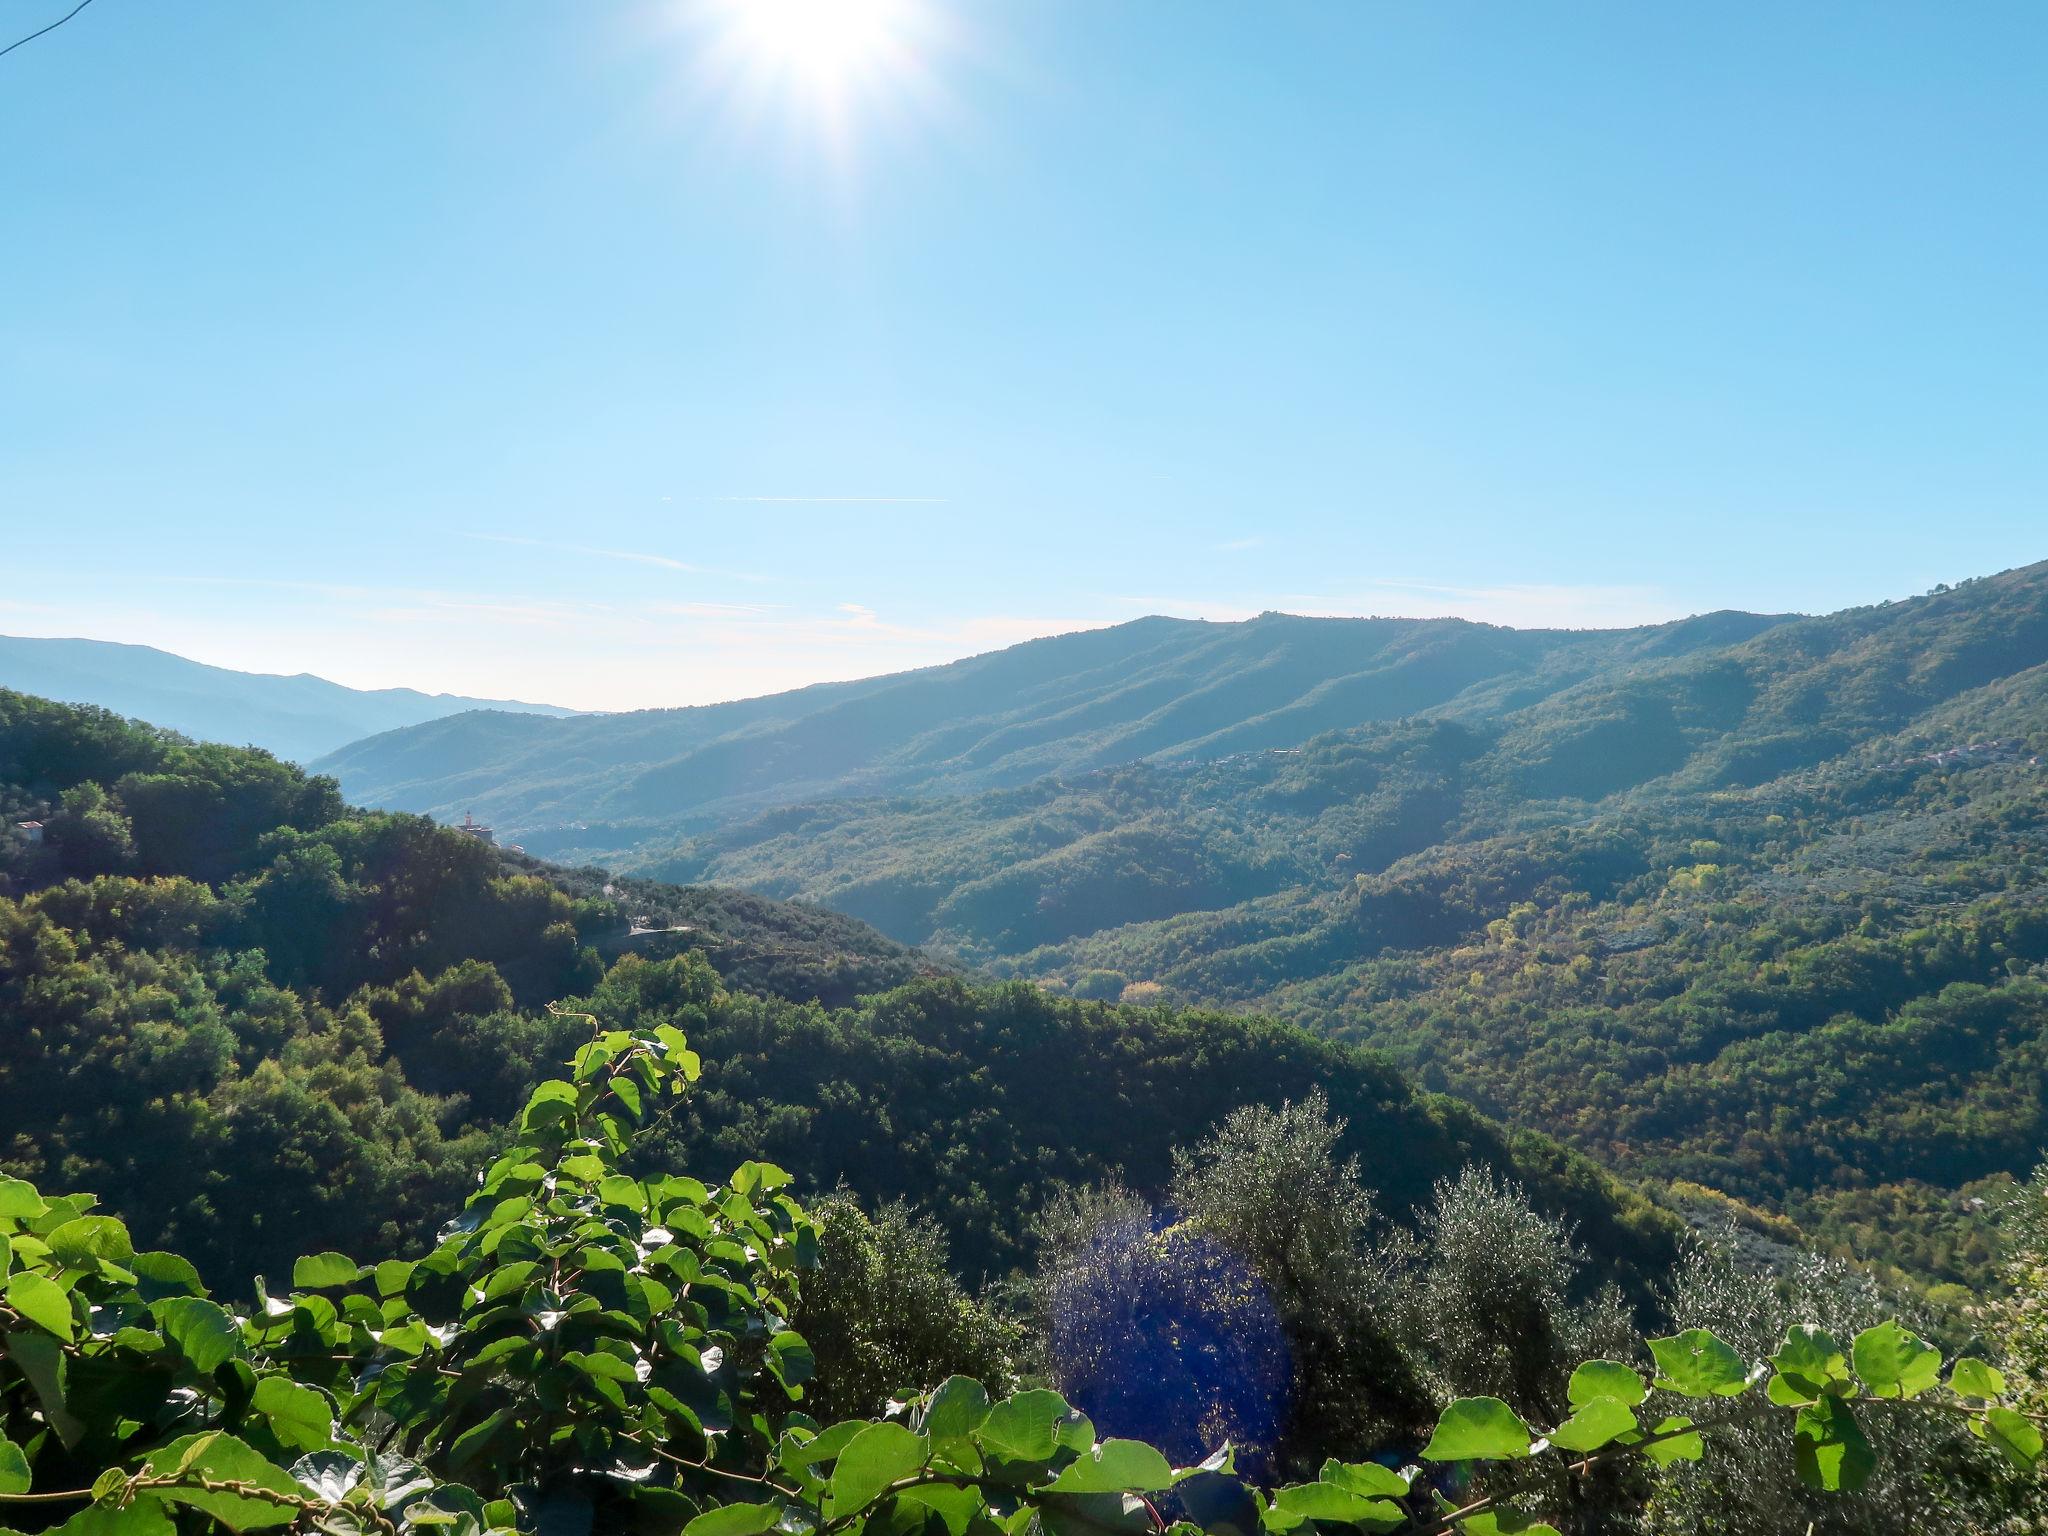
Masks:
[[[1673,1255],[1585,1159],[1292,1026],[969,987],[846,918],[551,870],[18,694],[0,797],[47,827],[0,844],[0,1171],[92,1188],[209,1274],[420,1231],[573,1042],[555,999],[688,1026],[705,1083],[653,1153],[909,1198],[969,1274],[1028,1262],[1063,1184],[1159,1188],[1176,1145],[1311,1090],[1395,1214],[1477,1161],[1638,1296]]]

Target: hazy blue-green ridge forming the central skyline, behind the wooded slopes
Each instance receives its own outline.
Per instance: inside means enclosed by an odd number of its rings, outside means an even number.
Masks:
[[[1522,631],[1462,618],[1153,616],[733,705],[449,717],[356,741],[317,768],[360,801],[434,815],[473,807],[520,836],[616,823],[621,834],[582,846],[604,852],[690,817],[797,801],[975,793],[1290,748],[1362,721],[1497,715],[1780,623],[1716,612]]]

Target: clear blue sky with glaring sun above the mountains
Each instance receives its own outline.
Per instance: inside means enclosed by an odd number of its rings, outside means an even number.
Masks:
[[[2048,555],[2038,0],[846,2],[0,59],[0,631],[629,707]]]

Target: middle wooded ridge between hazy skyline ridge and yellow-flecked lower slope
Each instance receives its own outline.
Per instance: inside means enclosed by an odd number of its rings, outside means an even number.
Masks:
[[[2048,563],[1729,645],[1692,645],[1702,629],[1671,627],[1661,649],[1610,643],[1622,659],[1569,686],[1544,690],[1554,666],[1540,684],[1501,674],[1411,719],[1362,713],[1298,745],[1268,715],[1257,752],[756,809],[668,846],[647,838],[623,862],[821,901],[987,958],[1346,889],[1438,846],[1599,823],[1618,801],[1692,813],[1702,797],[1726,807],[1786,776],[1929,750],[2005,741],[2032,756],[2021,743],[2048,729]]]

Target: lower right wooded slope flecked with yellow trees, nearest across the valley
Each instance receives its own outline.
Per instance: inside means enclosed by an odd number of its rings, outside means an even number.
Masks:
[[[2048,1141],[2044,811],[2025,760],[1874,764],[1616,805],[1014,965],[1366,1040],[1618,1165],[1978,1280],[1968,1186]]]

